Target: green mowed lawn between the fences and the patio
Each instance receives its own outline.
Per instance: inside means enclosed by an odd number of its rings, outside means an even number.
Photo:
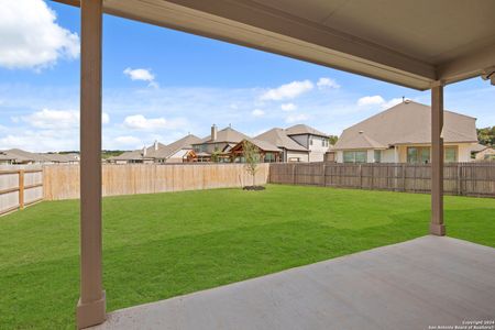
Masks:
[[[495,200],[446,197],[448,234],[495,246]],[[430,197],[298,186],[106,198],[109,310],[428,233]],[[0,218],[0,328],[74,328],[79,202]]]

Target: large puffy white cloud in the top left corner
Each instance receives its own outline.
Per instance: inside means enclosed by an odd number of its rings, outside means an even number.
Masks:
[[[41,69],[79,56],[79,36],[42,0],[0,2],[0,66]]]

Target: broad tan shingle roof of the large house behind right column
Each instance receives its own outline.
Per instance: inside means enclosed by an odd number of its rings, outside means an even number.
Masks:
[[[477,142],[475,118],[444,111],[443,141]],[[380,148],[397,144],[431,143],[431,108],[402,102],[342,132],[336,150]]]

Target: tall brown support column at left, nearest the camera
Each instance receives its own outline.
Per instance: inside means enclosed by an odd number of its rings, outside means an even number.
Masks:
[[[81,0],[79,329],[106,320],[101,270],[102,0]]]

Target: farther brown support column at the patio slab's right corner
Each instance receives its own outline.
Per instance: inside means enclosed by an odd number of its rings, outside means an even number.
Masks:
[[[431,223],[430,233],[446,234],[443,224],[443,84],[431,88]]]

